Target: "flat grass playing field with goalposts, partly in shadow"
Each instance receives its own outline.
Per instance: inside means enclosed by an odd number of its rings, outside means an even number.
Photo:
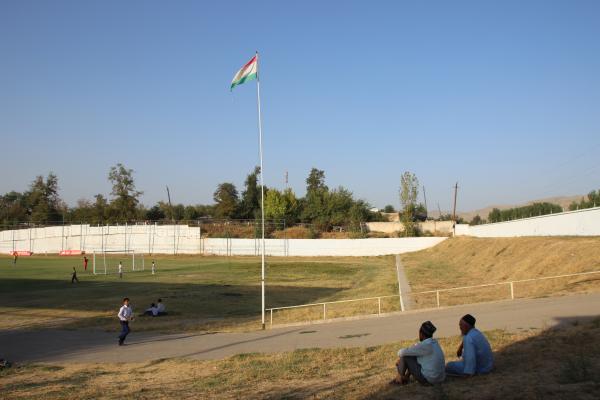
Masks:
[[[124,265],[123,279],[116,274],[119,260]],[[150,273],[151,260],[156,260],[156,275]],[[115,315],[125,296],[131,298],[136,313],[159,297],[169,311],[166,317],[139,318],[137,330],[180,332],[260,326],[257,257],[146,256],[145,272],[135,273],[128,272],[130,262],[127,257],[111,256],[110,273],[94,276],[91,260],[85,273],[79,257],[21,257],[16,266],[10,258],[0,257],[0,329],[114,329]],[[139,258],[136,263],[139,268]],[[78,270],[78,284],[70,283],[73,266]],[[395,290],[392,257],[268,258],[268,307],[393,294]],[[336,315],[335,308],[330,312]],[[296,319],[304,316],[294,315]]]

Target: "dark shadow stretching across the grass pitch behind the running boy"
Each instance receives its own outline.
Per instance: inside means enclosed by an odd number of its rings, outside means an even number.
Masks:
[[[339,288],[267,286],[269,307],[311,303],[333,296]],[[247,322],[260,317],[260,286],[127,281],[3,279],[2,315],[12,320],[52,318],[52,328],[105,328],[115,325],[123,297],[137,315],[162,298],[169,315],[138,318],[137,330],[186,331],[222,321]],[[3,326],[0,323],[0,331]],[[14,328],[13,328],[14,329]],[[25,325],[23,328],[28,329]]]

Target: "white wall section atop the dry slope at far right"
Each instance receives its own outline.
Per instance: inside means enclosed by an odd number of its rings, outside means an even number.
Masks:
[[[457,225],[457,235],[476,237],[600,236],[600,207],[485,225]]]

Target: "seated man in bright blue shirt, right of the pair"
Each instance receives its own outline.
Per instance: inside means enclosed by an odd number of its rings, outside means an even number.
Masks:
[[[469,377],[487,374],[494,368],[494,356],[490,343],[483,333],[475,328],[475,317],[467,314],[458,323],[463,341],[456,355],[461,361],[452,361],[446,365],[446,373],[453,376]]]

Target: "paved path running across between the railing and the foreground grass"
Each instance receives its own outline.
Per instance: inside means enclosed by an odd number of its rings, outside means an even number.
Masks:
[[[408,311],[383,317],[275,328],[248,333],[161,335],[134,333],[128,345],[117,346],[117,333],[98,331],[0,332],[0,352],[23,362],[143,362],[190,357],[218,359],[250,352],[280,352],[301,348],[373,346],[416,337],[424,320],[438,327],[439,337],[458,334],[465,313],[480,329],[510,331],[541,329],[600,315],[600,294],[520,299],[437,310]],[[115,326],[115,329],[118,327]]]

